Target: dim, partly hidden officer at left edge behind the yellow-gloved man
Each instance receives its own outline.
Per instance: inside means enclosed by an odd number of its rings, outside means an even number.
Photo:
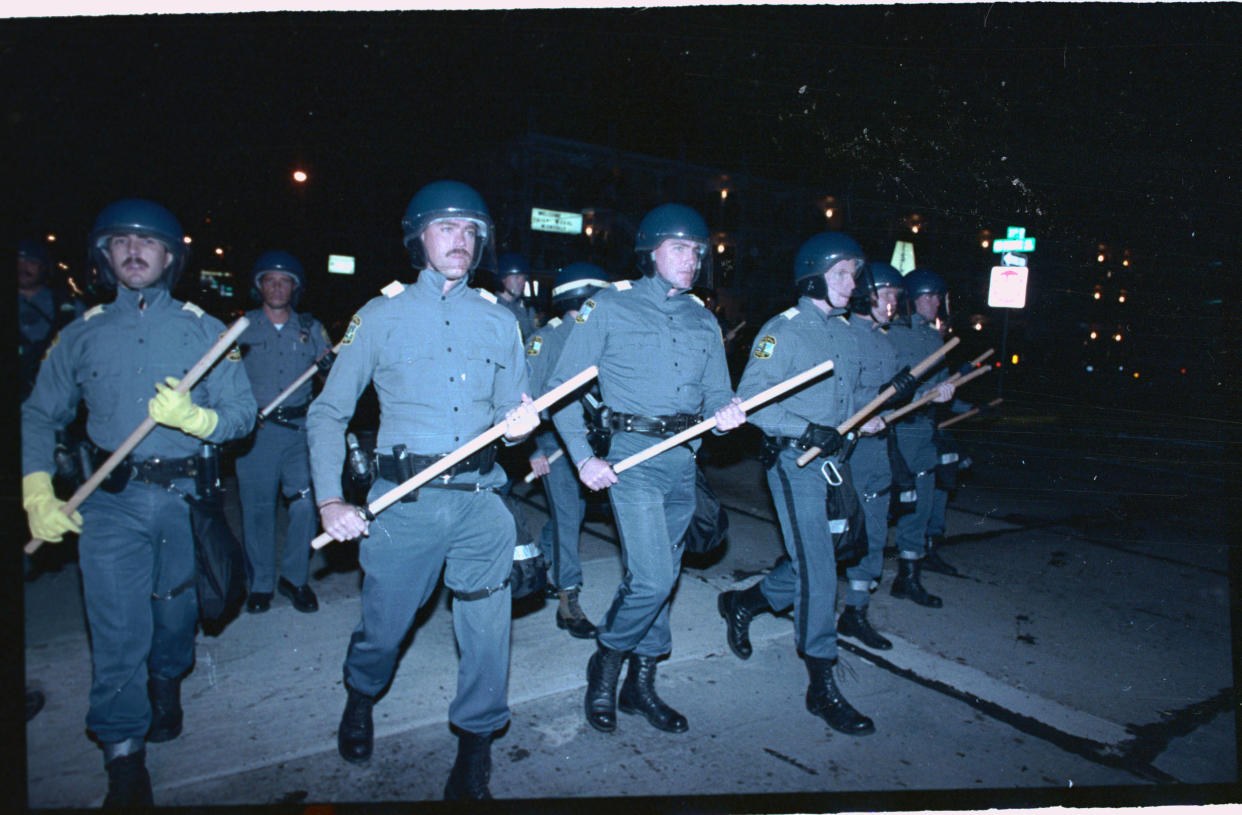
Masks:
[[[56,334],[82,316],[82,302],[51,285],[51,256],[34,239],[17,242],[17,362],[21,367],[20,398],[35,386],[39,364]]]

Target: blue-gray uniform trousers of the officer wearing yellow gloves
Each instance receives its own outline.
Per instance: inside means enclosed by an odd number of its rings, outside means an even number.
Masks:
[[[194,494],[194,481],[178,489]],[[96,489],[82,503],[78,565],[91,629],[91,707],[86,726],[104,743],[144,739],[147,677],[180,677],[194,666],[194,538],[185,499],[130,482]]]

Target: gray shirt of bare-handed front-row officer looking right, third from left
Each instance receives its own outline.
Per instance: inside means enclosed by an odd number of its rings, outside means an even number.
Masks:
[[[733,399],[720,328],[698,298],[658,276],[621,281],[582,303],[548,388],[587,365],[604,404],[643,416],[713,414]],[[576,406],[553,416],[574,463],[594,455]]]

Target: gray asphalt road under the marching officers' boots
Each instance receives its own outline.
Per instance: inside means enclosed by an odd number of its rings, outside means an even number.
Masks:
[[[592,644],[556,630],[554,603],[523,605],[513,627],[513,722],[493,747],[498,806],[1242,800],[1228,538],[1240,425],[1018,396],[958,435],[972,466],[950,504],[944,557],[963,576],[925,575],[945,601],[927,610],[889,596],[895,565],[887,560],[871,619],[894,649],[872,653],[841,641],[838,681],[876,721],[873,735],[837,734],[806,712],[787,617],[755,620],[750,660],[728,650],[715,595],[759,579],[781,543],[758,465],[720,448],[709,477],[729,509],[729,539],[722,557],[686,563],[673,653],[657,685],[689,732],[660,733],[627,716],[611,735],[587,727]],[[542,492],[518,492],[538,530]],[[620,576],[606,522],[587,524],[582,557],[582,604],[597,619]],[[277,596],[268,614],[200,635],[183,692],[185,732],[148,749],[158,804],[302,811],[440,799],[456,748],[446,723],[456,652],[443,593],[420,616],[375,708],[371,762],[354,767],[337,755],[340,663],[360,581],[348,564],[348,549],[332,562],[317,555],[318,614],[297,614]],[[94,806],[106,779],[83,732],[89,651],[76,568],[25,588],[27,683],[47,694],[26,728],[29,804]]]

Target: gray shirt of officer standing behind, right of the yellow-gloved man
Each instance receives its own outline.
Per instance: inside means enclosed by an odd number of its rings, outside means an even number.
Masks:
[[[283,328],[277,328],[262,308],[246,312],[250,327],[237,338],[242,363],[255,401],[266,408],[281,391],[306,373],[319,354],[332,348],[328,332],[314,317],[289,312]],[[310,380],[298,386],[282,408],[297,408],[310,401]]]

